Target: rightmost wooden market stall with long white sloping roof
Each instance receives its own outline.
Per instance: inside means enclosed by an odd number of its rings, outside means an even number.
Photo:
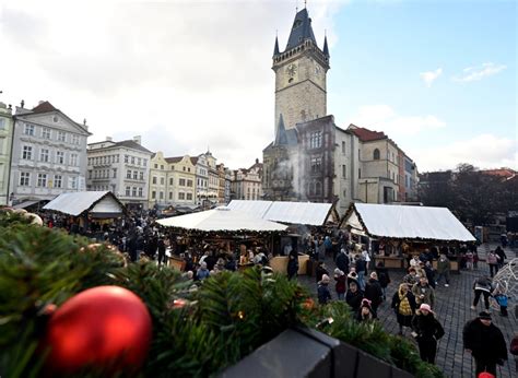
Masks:
[[[342,227],[363,237],[375,263],[407,268],[407,259],[436,246],[472,243],[475,238],[446,208],[352,203]],[[448,256],[458,271],[458,256]]]

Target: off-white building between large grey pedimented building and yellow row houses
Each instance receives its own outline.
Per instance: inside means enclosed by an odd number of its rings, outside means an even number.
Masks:
[[[129,208],[149,205],[150,160],[152,152],[142,144],[141,137],[87,146],[87,190],[109,190]]]

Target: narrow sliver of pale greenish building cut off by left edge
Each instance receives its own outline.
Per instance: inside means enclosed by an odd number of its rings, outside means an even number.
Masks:
[[[10,203],[9,181],[13,127],[11,106],[0,103],[0,205]]]

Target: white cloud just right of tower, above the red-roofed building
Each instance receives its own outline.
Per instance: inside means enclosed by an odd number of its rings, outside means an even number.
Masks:
[[[398,114],[386,104],[361,106],[350,123],[370,130],[384,131],[393,140],[401,135],[415,135],[424,131],[442,129],[446,122],[432,115],[408,116]]]

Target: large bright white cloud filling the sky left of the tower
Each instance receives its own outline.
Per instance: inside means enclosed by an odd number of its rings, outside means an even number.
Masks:
[[[345,3],[310,3],[320,47]],[[283,49],[294,15],[293,1],[1,2],[1,101],[50,101],[87,119],[90,142],[141,134],[169,156],[210,146],[249,166],[273,139],[275,29]]]

